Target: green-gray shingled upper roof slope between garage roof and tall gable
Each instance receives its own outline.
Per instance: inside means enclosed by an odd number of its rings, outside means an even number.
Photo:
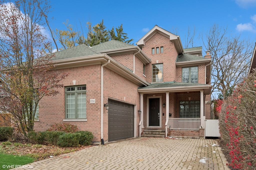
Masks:
[[[134,46],[134,45],[126,44],[116,40],[111,40],[98,45],[94,45],[92,46],[92,48],[97,51],[105,51],[105,50],[113,50],[117,48],[124,48],[124,47],[131,47],[131,46]]]

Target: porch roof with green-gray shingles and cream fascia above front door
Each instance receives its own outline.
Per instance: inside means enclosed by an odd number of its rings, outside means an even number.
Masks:
[[[197,83],[182,83],[182,82],[164,82],[164,83],[150,83],[149,86],[139,87],[140,93],[165,93],[165,92],[191,92],[204,91],[204,94],[211,93],[211,85],[197,84]]]

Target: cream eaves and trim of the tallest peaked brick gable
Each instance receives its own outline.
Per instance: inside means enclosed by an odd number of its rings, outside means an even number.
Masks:
[[[166,31],[165,29],[160,28],[157,25],[155,25],[154,28],[152,28],[148,33],[146,33],[146,35],[144,35],[138,42],[136,42],[136,44],[141,48],[142,46],[145,45],[145,42],[149,40],[157,32],[169,38],[170,41],[174,43],[176,50],[178,51],[178,54],[184,53],[184,49],[179,36],[173,33],[170,33],[169,31]]]

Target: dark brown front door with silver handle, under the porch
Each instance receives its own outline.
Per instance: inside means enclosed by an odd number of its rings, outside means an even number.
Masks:
[[[160,109],[159,98],[149,99],[149,126],[159,126]]]

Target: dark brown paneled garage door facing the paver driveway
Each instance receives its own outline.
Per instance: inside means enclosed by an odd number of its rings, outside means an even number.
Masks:
[[[109,141],[134,137],[134,105],[109,100]]]

